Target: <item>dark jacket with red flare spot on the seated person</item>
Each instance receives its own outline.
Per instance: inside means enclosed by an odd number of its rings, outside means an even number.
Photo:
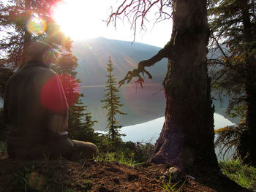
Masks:
[[[4,120],[7,145],[31,147],[67,131],[68,105],[58,75],[39,61],[29,61],[7,82]]]

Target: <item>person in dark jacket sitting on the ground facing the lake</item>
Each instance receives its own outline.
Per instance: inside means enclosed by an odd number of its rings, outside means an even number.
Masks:
[[[10,158],[94,158],[96,145],[67,137],[68,111],[59,76],[50,67],[53,48],[31,42],[29,61],[10,77],[4,96]]]

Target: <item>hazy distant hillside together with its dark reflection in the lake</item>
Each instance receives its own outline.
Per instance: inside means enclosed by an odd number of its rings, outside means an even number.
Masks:
[[[105,131],[106,111],[102,110],[104,89],[106,81],[106,64],[109,57],[113,61],[114,75],[116,81],[121,80],[129,70],[134,69],[139,61],[151,58],[161,48],[142,43],[124,42],[112,39],[97,38],[89,39],[86,42],[75,42],[74,53],[78,57],[78,78],[82,81],[81,93],[85,95],[84,103],[92,112],[94,120],[98,120],[94,128]],[[121,108],[128,115],[118,118],[122,126],[130,126],[144,123],[164,116],[165,96],[162,90],[162,82],[167,72],[167,59],[162,59],[155,66],[148,68],[153,76],[152,80],[146,82],[144,88],[138,85],[135,80],[129,85],[120,88],[120,97],[124,106]],[[217,113],[224,115],[227,101],[222,106],[214,101]]]

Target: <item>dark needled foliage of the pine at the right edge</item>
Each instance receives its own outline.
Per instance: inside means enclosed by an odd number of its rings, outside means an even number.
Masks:
[[[219,39],[222,49],[225,49],[225,55],[210,61],[211,64],[219,65],[213,77],[213,88],[219,90],[220,94],[230,96],[227,113],[234,115],[236,106],[245,104],[246,81],[250,74],[248,70],[256,70],[255,64],[248,62],[256,55],[256,5],[255,1],[247,0],[209,2],[212,37],[216,41]]]

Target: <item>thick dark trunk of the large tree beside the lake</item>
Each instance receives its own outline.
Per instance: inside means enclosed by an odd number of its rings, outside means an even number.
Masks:
[[[217,168],[214,110],[206,67],[206,0],[176,0],[164,88],[165,123],[151,162]]]

